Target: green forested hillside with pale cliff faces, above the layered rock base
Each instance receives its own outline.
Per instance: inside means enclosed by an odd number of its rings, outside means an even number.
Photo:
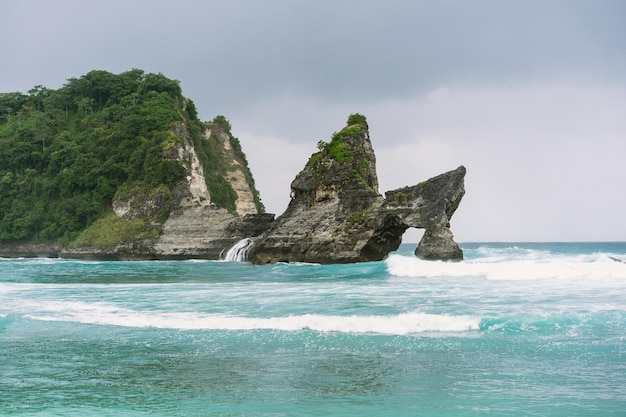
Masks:
[[[228,120],[201,122],[177,81],[91,71],[0,93],[0,245],[155,240],[184,205],[264,212]]]

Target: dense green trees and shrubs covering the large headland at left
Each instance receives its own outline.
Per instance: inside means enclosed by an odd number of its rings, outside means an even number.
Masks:
[[[58,90],[0,93],[0,242],[69,244],[80,235],[77,242],[106,246],[158,235],[150,224],[169,212],[123,224],[111,217],[111,203],[118,191],[169,192],[184,180],[171,157],[181,140],[174,126],[203,142],[204,126],[178,81],[139,69],[91,71]],[[241,151],[238,141],[233,148]],[[237,196],[212,168],[219,154],[203,149],[209,192],[232,209]],[[90,225],[92,234],[81,234]]]

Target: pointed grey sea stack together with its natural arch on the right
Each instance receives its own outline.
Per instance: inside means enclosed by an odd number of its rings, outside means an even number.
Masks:
[[[398,248],[409,227],[426,229],[418,257],[463,258],[450,218],[465,192],[464,167],[383,198],[365,117],[351,115],[330,143],[318,146],[291,184],[287,210],[256,239],[251,262],[377,261]]]

